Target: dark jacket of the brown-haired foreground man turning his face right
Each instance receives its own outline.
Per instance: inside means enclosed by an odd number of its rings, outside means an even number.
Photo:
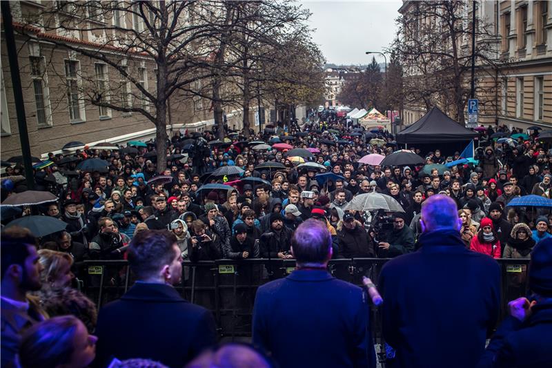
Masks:
[[[216,341],[210,311],[182,299],[170,285],[144,282],[101,309],[95,334],[95,367],[106,367],[112,357],[184,367]]]

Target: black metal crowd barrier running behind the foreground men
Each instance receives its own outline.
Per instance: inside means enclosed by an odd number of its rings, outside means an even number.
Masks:
[[[331,260],[328,271],[341,280],[362,285],[366,275],[376,284],[388,259],[353,258]],[[501,320],[509,300],[525,296],[529,260],[499,259],[502,270]],[[221,337],[251,335],[251,317],[257,287],[284,278],[295,269],[295,260],[251,259],[182,263],[182,280],[175,288],[190,302],[213,311]],[[101,307],[120,298],[135,281],[124,260],[89,260],[77,264],[81,291]],[[371,307],[371,328],[375,343],[383,346],[380,313]]]

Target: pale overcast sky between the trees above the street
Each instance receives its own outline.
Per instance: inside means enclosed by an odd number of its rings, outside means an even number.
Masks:
[[[313,41],[326,61],[333,64],[368,64],[366,51],[382,51],[388,47],[397,27],[395,18],[400,0],[365,1],[301,1],[311,10],[311,28],[316,28]],[[381,55],[375,55],[383,63]],[[388,55],[387,55],[388,56]],[[387,57],[388,59],[388,57]]]

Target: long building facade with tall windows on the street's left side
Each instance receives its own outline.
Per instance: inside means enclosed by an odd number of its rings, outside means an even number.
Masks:
[[[103,50],[113,59],[119,60],[128,75],[135,79],[122,77],[121,72],[98,59],[86,57],[75,52],[75,46],[82,50],[94,50],[109,39],[106,30],[70,31],[58,28],[45,30],[40,24],[48,20],[41,19],[42,12],[48,7],[56,7],[53,20],[62,21],[68,16],[70,1],[10,1],[14,28],[25,28],[25,36],[16,32],[19,74],[23,88],[23,103],[26,110],[31,154],[43,156],[48,152],[59,151],[71,141],[84,144],[96,142],[124,143],[133,139],[155,137],[155,125],[144,114],[120,112],[90,103],[91,99],[115,101],[119,106],[140,106],[148,113],[154,107],[137,84],[144,90],[155,93],[157,88],[157,67],[144,52],[128,52],[121,55],[117,49]],[[89,22],[109,23],[121,28],[138,32],[144,31],[143,20],[131,12],[118,12],[109,19],[99,18],[88,10]],[[35,19],[38,18],[38,19]],[[29,24],[37,26],[29,26]],[[93,28],[93,27],[90,27]],[[101,27],[99,27],[101,28]],[[115,32],[115,31],[114,31]],[[115,36],[112,35],[112,36]],[[3,37],[3,29],[2,29]],[[125,37],[121,35],[121,37]],[[63,44],[72,48],[64,48]],[[1,151],[3,160],[21,155],[21,145],[15,101],[10,75],[10,64],[6,43],[0,46],[1,56]],[[130,77],[129,77],[130,78]],[[207,86],[197,81],[193,89]],[[100,92],[98,92],[100,91]],[[225,108],[228,126],[242,128],[241,111]],[[210,100],[191,97],[184,93],[175,93],[168,104],[168,126],[173,130],[206,130],[214,125],[213,108]],[[251,109],[250,122],[254,122],[255,108]],[[255,124],[251,124],[255,128]]]

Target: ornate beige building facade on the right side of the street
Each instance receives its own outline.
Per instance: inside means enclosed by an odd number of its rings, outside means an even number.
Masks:
[[[460,16],[471,19],[471,1],[463,5],[459,7],[463,12]],[[399,12],[408,21],[419,14],[416,11],[419,6],[421,3],[417,1],[403,1]],[[489,55],[491,59],[500,60],[493,67],[476,61],[475,98],[479,99],[480,124],[552,128],[551,6],[549,0],[477,1],[476,27],[484,26],[486,32],[477,33],[476,42],[479,46],[484,43],[486,52],[493,54]],[[464,27],[471,30],[471,21]],[[458,46],[470,52],[471,39],[459,39]],[[420,77],[405,72],[406,78]],[[467,76],[462,81],[464,86],[470,82]],[[442,95],[432,99],[444,111],[448,108],[447,101]],[[424,113],[426,101],[422,97],[406,103],[403,124],[413,124]]]

